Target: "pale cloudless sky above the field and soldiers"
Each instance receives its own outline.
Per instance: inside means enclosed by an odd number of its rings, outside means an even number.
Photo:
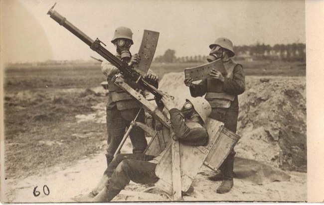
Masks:
[[[49,15],[54,10],[92,39],[110,43],[119,26],[133,31],[132,53],[143,30],[160,32],[156,55],[207,55],[227,37],[234,45],[305,43],[304,0],[1,0],[1,57],[5,62],[89,60],[100,57]]]

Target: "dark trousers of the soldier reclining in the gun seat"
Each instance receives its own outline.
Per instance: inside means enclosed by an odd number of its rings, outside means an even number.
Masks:
[[[107,184],[109,199],[113,199],[132,180],[135,183],[156,183],[157,164],[148,162],[154,156],[145,154],[118,154],[109,164],[105,175],[110,177]]]

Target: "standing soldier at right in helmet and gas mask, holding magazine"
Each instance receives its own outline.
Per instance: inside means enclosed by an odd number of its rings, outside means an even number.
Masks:
[[[237,96],[245,91],[245,77],[243,67],[234,63],[231,59],[235,53],[233,44],[227,38],[218,38],[209,45],[210,53],[208,62],[222,59],[227,74],[223,76],[219,71],[212,69],[209,78],[202,80],[199,84],[193,84],[191,78],[186,78],[184,84],[189,87],[192,97],[203,96],[210,103],[212,111],[210,118],[224,123],[224,126],[236,132],[238,118],[238,99]],[[209,177],[213,181],[223,181],[217,188],[217,193],[227,193],[233,187],[233,166],[234,150],[228,155],[220,166],[220,173]]]

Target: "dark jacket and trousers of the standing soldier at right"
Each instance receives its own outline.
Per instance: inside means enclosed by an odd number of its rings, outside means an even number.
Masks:
[[[227,129],[236,132],[239,110],[237,96],[245,91],[245,76],[242,65],[231,59],[224,62],[224,67],[227,72],[224,82],[207,78],[197,85],[191,84],[189,89],[192,97],[206,94],[205,99],[212,107],[209,117],[223,122]],[[234,155],[232,150],[219,168],[224,180],[233,180]]]

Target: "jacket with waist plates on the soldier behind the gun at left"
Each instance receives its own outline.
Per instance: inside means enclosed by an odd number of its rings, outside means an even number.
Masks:
[[[121,58],[121,56],[118,53],[115,56],[119,59]],[[140,107],[140,105],[137,103],[135,99],[133,99],[123,89],[121,89],[111,81],[114,75],[120,73],[118,68],[116,68],[108,61],[103,61],[101,64],[101,71],[107,77],[107,82],[108,82],[109,94],[108,94],[107,108],[113,108],[117,106],[118,110],[124,110],[124,109],[132,109],[132,108]],[[154,74],[154,72],[151,69],[149,69],[148,73]],[[133,82],[127,82],[127,83],[135,90],[141,89],[136,83]]]

